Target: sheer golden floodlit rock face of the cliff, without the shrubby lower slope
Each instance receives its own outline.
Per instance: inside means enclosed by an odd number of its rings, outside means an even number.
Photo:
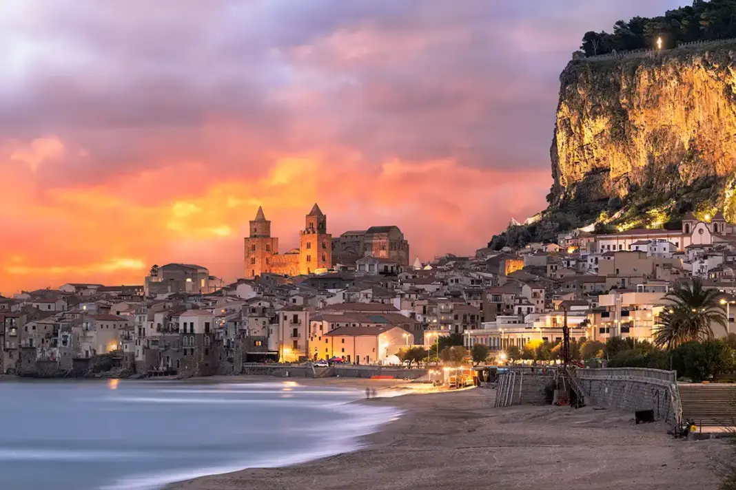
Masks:
[[[736,46],[573,60],[560,76],[553,206],[677,199],[707,182],[723,206],[736,169]]]

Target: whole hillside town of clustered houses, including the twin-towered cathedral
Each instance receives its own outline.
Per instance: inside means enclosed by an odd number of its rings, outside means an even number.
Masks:
[[[721,294],[729,328],[736,229],[721,213],[682,228],[570,231],[556,243],[410,263],[397,226],[328,234],[316,204],[300,248],[280,254],[258,209],[244,239],[243,278],[206,266],[152,267],[140,286],[62,284],[0,298],[0,372],[32,376],[237,374],[244,364],[339,359],[386,364],[438,339],[491,356],[536,341],[651,340],[679,281]],[[439,352],[436,352],[439,355]]]

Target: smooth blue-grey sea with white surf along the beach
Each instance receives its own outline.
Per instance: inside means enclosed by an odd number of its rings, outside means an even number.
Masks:
[[[284,383],[0,382],[1,490],[152,490],[355,450],[397,417]]]

